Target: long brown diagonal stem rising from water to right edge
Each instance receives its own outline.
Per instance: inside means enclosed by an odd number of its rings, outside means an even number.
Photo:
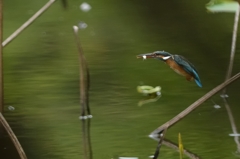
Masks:
[[[227,85],[229,85],[230,83],[232,83],[233,81],[235,81],[236,79],[238,79],[240,77],[240,72],[237,73],[235,76],[231,77],[230,79],[228,79],[227,81],[223,82],[222,84],[218,85],[217,87],[215,87],[214,89],[212,89],[211,91],[209,91],[207,94],[205,94],[204,96],[202,96],[201,98],[199,98],[197,101],[195,101],[193,104],[191,104],[189,107],[187,107],[184,111],[182,111],[181,113],[179,113],[178,115],[176,115],[174,118],[172,118],[171,120],[167,121],[165,124],[163,124],[162,126],[158,127],[156,130],[154,130],[151,134],[157,134],[158,132],[161,132],[166,125],[168,125],[169,127],[174,125],[175,123],[177,123],[179,120],[181,120],[182,118],[184,118],[186,115],[188,115],[190,112],[192,112],[194,109],[196,109],[198,106],[200,106],[203,102],[205,102],[207,99],[209,99],[210,97],[212,97],[214,94],[216,94],[217,92],[219,92],[220,90],[222,90],[224,87],[226,87]]]

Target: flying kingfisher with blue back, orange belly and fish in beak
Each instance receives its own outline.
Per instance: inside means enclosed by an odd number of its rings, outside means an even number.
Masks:
[[[165,51],[155,51],[153,53],[146,53],[137,55],[137,58],[148,59],[154,58],[165,62],[176,73],[186,77],[186,80],[195,80],[199,87],[202,87],[201,80],[195,66],[190,63],[185,57],[181,55],[172,55]]]

